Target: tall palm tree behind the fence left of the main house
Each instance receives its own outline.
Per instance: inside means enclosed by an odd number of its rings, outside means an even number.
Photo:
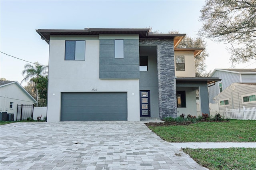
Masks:
[[[36,89],[36,84],[31,80],[32,78],[38,78],[40,75],[48,75],[48,66],[47,65],[41,65],[38,62],[35,63],[33,66],[32,64],[25,64],[24,70],[22,71],[22,75],[25,75],[25,78],[20,82],[26,82],[30,81],[30,83],[34,84],[34,89]],[[38,90],[36,89],[36,107],[38,106]]]

